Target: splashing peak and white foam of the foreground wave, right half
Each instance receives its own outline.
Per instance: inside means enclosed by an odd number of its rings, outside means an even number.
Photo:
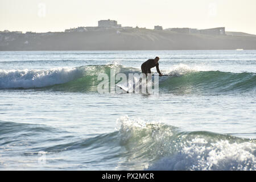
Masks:
[[[121,143],[134,148],[133,154],[143,153],[141,163],[148,170],[256,169],[255,140],[206,131],[180,133],[176,127],[164,123],[127,116],[119,118],[118,125]],[[151,162],[146,164],[147,161]]]

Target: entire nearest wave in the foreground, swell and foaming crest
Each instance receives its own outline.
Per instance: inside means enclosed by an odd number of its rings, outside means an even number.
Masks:
[[[256,170],[255,139],[208,131],[186,132],[166,123],[139,118],[124,116],[117,119],[117,131],[85,139],[73,137],[72,140],[67,140],[70,133],[44,125],[13,122],[0,122],[0,125],[3,137],[15,135],[23,142],[26,137],[48,133],[48,139],[43,137],[35,141],[43,143],[40,147],[32,144],[24,155],[38,155],[44,151],[50,158],[61,152],[81,155],[89,152],[92,156],[88,163],[112,163],[118,170]],[[64,137],[56,140],[52,135],[56,130]],[[52,140],[53,143],[47,144]],[[12,145],[11,142],[18,141],[15,139],[8,144]],[[5,145],[3,142],[0,147]],[[98,159],[98,156],[104,158]]]

